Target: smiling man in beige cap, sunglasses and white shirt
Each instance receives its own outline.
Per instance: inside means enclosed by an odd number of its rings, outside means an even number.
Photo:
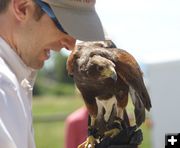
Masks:
[[[50,50],[102,40],[94,0],[0,0],[0,148],[35,148],[31,101]]]

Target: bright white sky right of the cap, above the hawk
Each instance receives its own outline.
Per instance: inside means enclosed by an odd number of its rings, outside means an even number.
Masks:
[[[180,59],[180,0],[97,0],[108,36],[138,60]]]

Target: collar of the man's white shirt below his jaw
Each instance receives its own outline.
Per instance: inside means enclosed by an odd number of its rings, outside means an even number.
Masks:
[[[22,61],[17,53],[8,45],[8,43],[0,37],[0,56],[9,65],[10,69],[15,73],[20,84],[27,80],[31,86],[34,85],[37,70],[34,70]]]

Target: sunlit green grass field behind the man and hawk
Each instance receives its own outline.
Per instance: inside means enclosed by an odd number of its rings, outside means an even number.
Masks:
[[[67,116],[83,105],[78,96],[65,97],[34,97],[33,116],[34,132],[37,148],[64,148],[64,120],[44,121],[40,117],[58,115]],[[150,128],[142,126],[144,140],[140,148],[151,148]]]

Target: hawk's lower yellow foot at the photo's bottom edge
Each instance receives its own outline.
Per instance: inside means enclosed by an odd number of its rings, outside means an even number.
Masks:
[[[78,146],[78,148],[95,148],[96,139],[93,136],[87,137],[86,141]]]

